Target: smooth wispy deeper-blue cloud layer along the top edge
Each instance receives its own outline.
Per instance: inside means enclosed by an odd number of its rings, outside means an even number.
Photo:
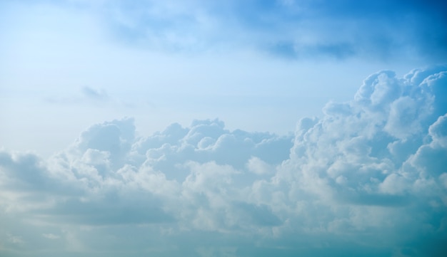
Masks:
[[[126,43],[172,51],[241,44],[299,59],[447,54],[441,1],[114,1],[101,14]]]

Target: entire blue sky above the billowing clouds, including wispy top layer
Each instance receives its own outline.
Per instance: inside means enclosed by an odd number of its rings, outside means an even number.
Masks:
[[[376,70],[403,75],[446,56],[433,28],[443,17],[428,4],[131,3],[1,3],[1,102],[14,110],[1,112],[6,147],[51,154],[124,116],[143,135],[215,117],[286,134],[328,100],[351,99]]]

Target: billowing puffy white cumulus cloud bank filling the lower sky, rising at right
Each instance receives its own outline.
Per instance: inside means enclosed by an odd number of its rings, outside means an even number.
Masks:
[[[444,256],[446,90],[446,66],[383,70],[294,135],[124,118],[2,150],[1,256]]]

